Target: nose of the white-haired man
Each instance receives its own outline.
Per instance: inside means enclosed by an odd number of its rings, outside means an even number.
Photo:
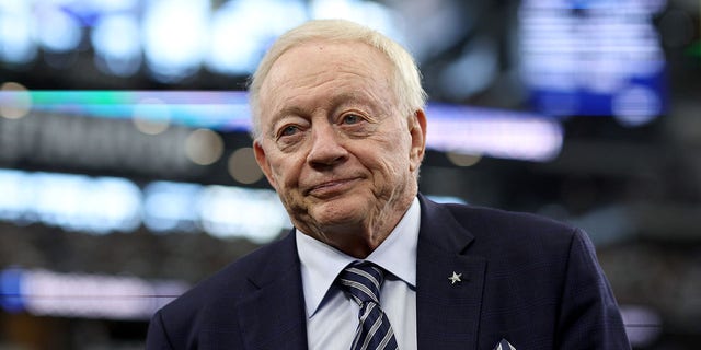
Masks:
[[[329,167],[348,159],[348,151],[342,143],[341,136],[329,124],[312,127],[311,149],[307,161],[312,167]]]

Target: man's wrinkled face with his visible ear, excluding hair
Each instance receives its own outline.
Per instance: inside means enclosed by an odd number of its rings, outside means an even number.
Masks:
[[[368,45],[308,43],[280,56],[261,86],[256,160],[312,236],[393,228],[416,195],[425,118],[399,114],[392,72]]]

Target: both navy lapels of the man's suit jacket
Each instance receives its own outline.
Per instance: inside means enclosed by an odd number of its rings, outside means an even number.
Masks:
[[[474,236],[446,206],[422,195],[418,199],[418,348],[474,348],[486,261],[467,254]],[[238,305],[246,349],[308,347],[301,268],[292,233],[274,243],[264,264],[249,277],[254,291]],[[455,282],[449,279],[453,272],[459,276]]]

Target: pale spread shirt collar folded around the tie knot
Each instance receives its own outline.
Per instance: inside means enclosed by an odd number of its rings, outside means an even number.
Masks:
[[[416,246],[421,209],[414,198],[404,217],[390,235],[367,258],[381,266],[412,289],[416,287]],[[302,288],[307,316],[311,317],[321,305],[336,276],[357,259],[296,230],[297,254],[301,262]]]

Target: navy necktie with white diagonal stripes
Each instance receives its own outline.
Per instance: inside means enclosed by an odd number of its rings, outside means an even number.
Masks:
[[[399,349],[390,320],[380,307],[383,280],[382,269],[367,261],[349,265],[338,276],[344,292],[360,306],[352,350]]]

